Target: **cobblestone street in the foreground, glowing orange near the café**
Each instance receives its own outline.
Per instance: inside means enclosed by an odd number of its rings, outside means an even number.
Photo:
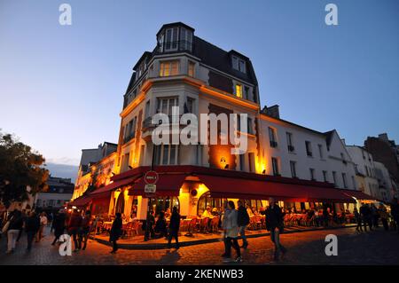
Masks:
[[[325,255],[325,235],[338,236],[338,255]],[[14,254],[5,254],[6,240],[0,240],[0,264],[223,264],[222,242],[184,247],[179,250],[119,250],[111,255],[110,247],[89,241],[88,249],[72,256],[61,256],[58,246],[51,246],[51,236],[35,244],[30,254],[25,251],[26,237],[22,237]],[[399,264],[399,234],[385,232],[359,233],[355,228],[283,234],[282,242],[288,253],[279,264]],[[243,263],[275,264],[270,239],[250,239],[243,252]]]

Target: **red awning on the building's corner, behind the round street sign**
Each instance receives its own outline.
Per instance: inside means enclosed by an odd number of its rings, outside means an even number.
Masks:
[[[178,196],[180,188],[187,177],[185,174],[160,174],[156,184],[157,196]],[[129,190],[129,195],[144,195],[145,194],[145,178],[141,177],[133,188]]]

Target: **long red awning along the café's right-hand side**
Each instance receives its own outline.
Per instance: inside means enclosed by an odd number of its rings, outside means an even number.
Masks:
[[[294,185],[270,181],[199,175],[212,197],[286,201],[354,202],[340,190],[329,187]]]

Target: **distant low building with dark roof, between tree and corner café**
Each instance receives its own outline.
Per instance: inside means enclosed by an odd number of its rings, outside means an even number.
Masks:
[[[64,208],[74,193],[70,178],[49,177],[46,192],[35,195],[35,208]]]

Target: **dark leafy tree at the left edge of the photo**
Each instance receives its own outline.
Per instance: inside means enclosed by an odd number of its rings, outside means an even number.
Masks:
[[[8,208],[13,201],[28,199],[29,193],[47,189],[49,171],[44,158],[10,134],[0,132],[0,202]]]

